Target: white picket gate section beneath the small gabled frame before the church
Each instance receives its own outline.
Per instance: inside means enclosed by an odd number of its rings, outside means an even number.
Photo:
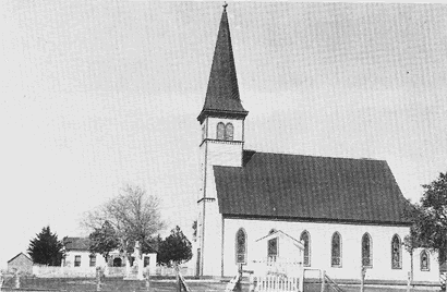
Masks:
[[[300,287],[300,278],[266,276],[256,277],[255,291],[258,292],[297,292]]]

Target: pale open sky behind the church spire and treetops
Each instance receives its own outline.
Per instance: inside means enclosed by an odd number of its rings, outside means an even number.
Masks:
[[[125,184],[191,235],[221,4],[1,1],[0,268]],[[246,149],[387,160],[412,202],[447,171],[447,5],[227,10]]]

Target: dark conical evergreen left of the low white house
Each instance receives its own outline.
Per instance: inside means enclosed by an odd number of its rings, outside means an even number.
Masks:
[[[28,254],[34,264],[60,266],[64,255],[63,244],[50,227],[44,227],[36,238],[29,241]]]

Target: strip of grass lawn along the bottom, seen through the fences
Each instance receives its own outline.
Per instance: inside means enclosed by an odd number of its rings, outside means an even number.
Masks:
[[[198,281],[198,280],[188,280],[186,283],[191,288],[193,292],[224,292],[227,285],[226,282],[220,281]],[[5,287],[12,287],[13,282],[7,282]],[[43,279],[43,278],[22,278],[21,279],[21,288],[22,289],[36,289],[36,290],[45,290],[48,291],[96,291],[96,282],[95,279]],[[176,282],[173,279],[170,280],[154,280],[150,282],[150,288],[153,292],[161,292],[161,291],[176,291]],[[340,288],[345,292],[360,292],[359,285],[340,285]],[[11,290],[5,290],[11,291]],[[121,291],[121,292],[143,292],[146,291],[145,281],[137,281],[137,280],[122,280],[118,278],[106,278],[102,285],[101,291]],[[242,291],[249,291],[249,284],[242,284]],[[321,292],[321,284],[317,283],[305,283],[304,287],[305,292]],[[333,292],[333,289],[326,289],[326,292]],[[365,292],[407,292],[406,287],[365,287]],[[423,292],[423,291],[439,291],[438,288],[431,288],[431,287],[420,287],[413,288],[412,292]]]

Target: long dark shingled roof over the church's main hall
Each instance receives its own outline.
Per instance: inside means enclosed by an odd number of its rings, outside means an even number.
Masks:
[[[408,224],[386,161],[244,151],[214,171],[224,216]]]

